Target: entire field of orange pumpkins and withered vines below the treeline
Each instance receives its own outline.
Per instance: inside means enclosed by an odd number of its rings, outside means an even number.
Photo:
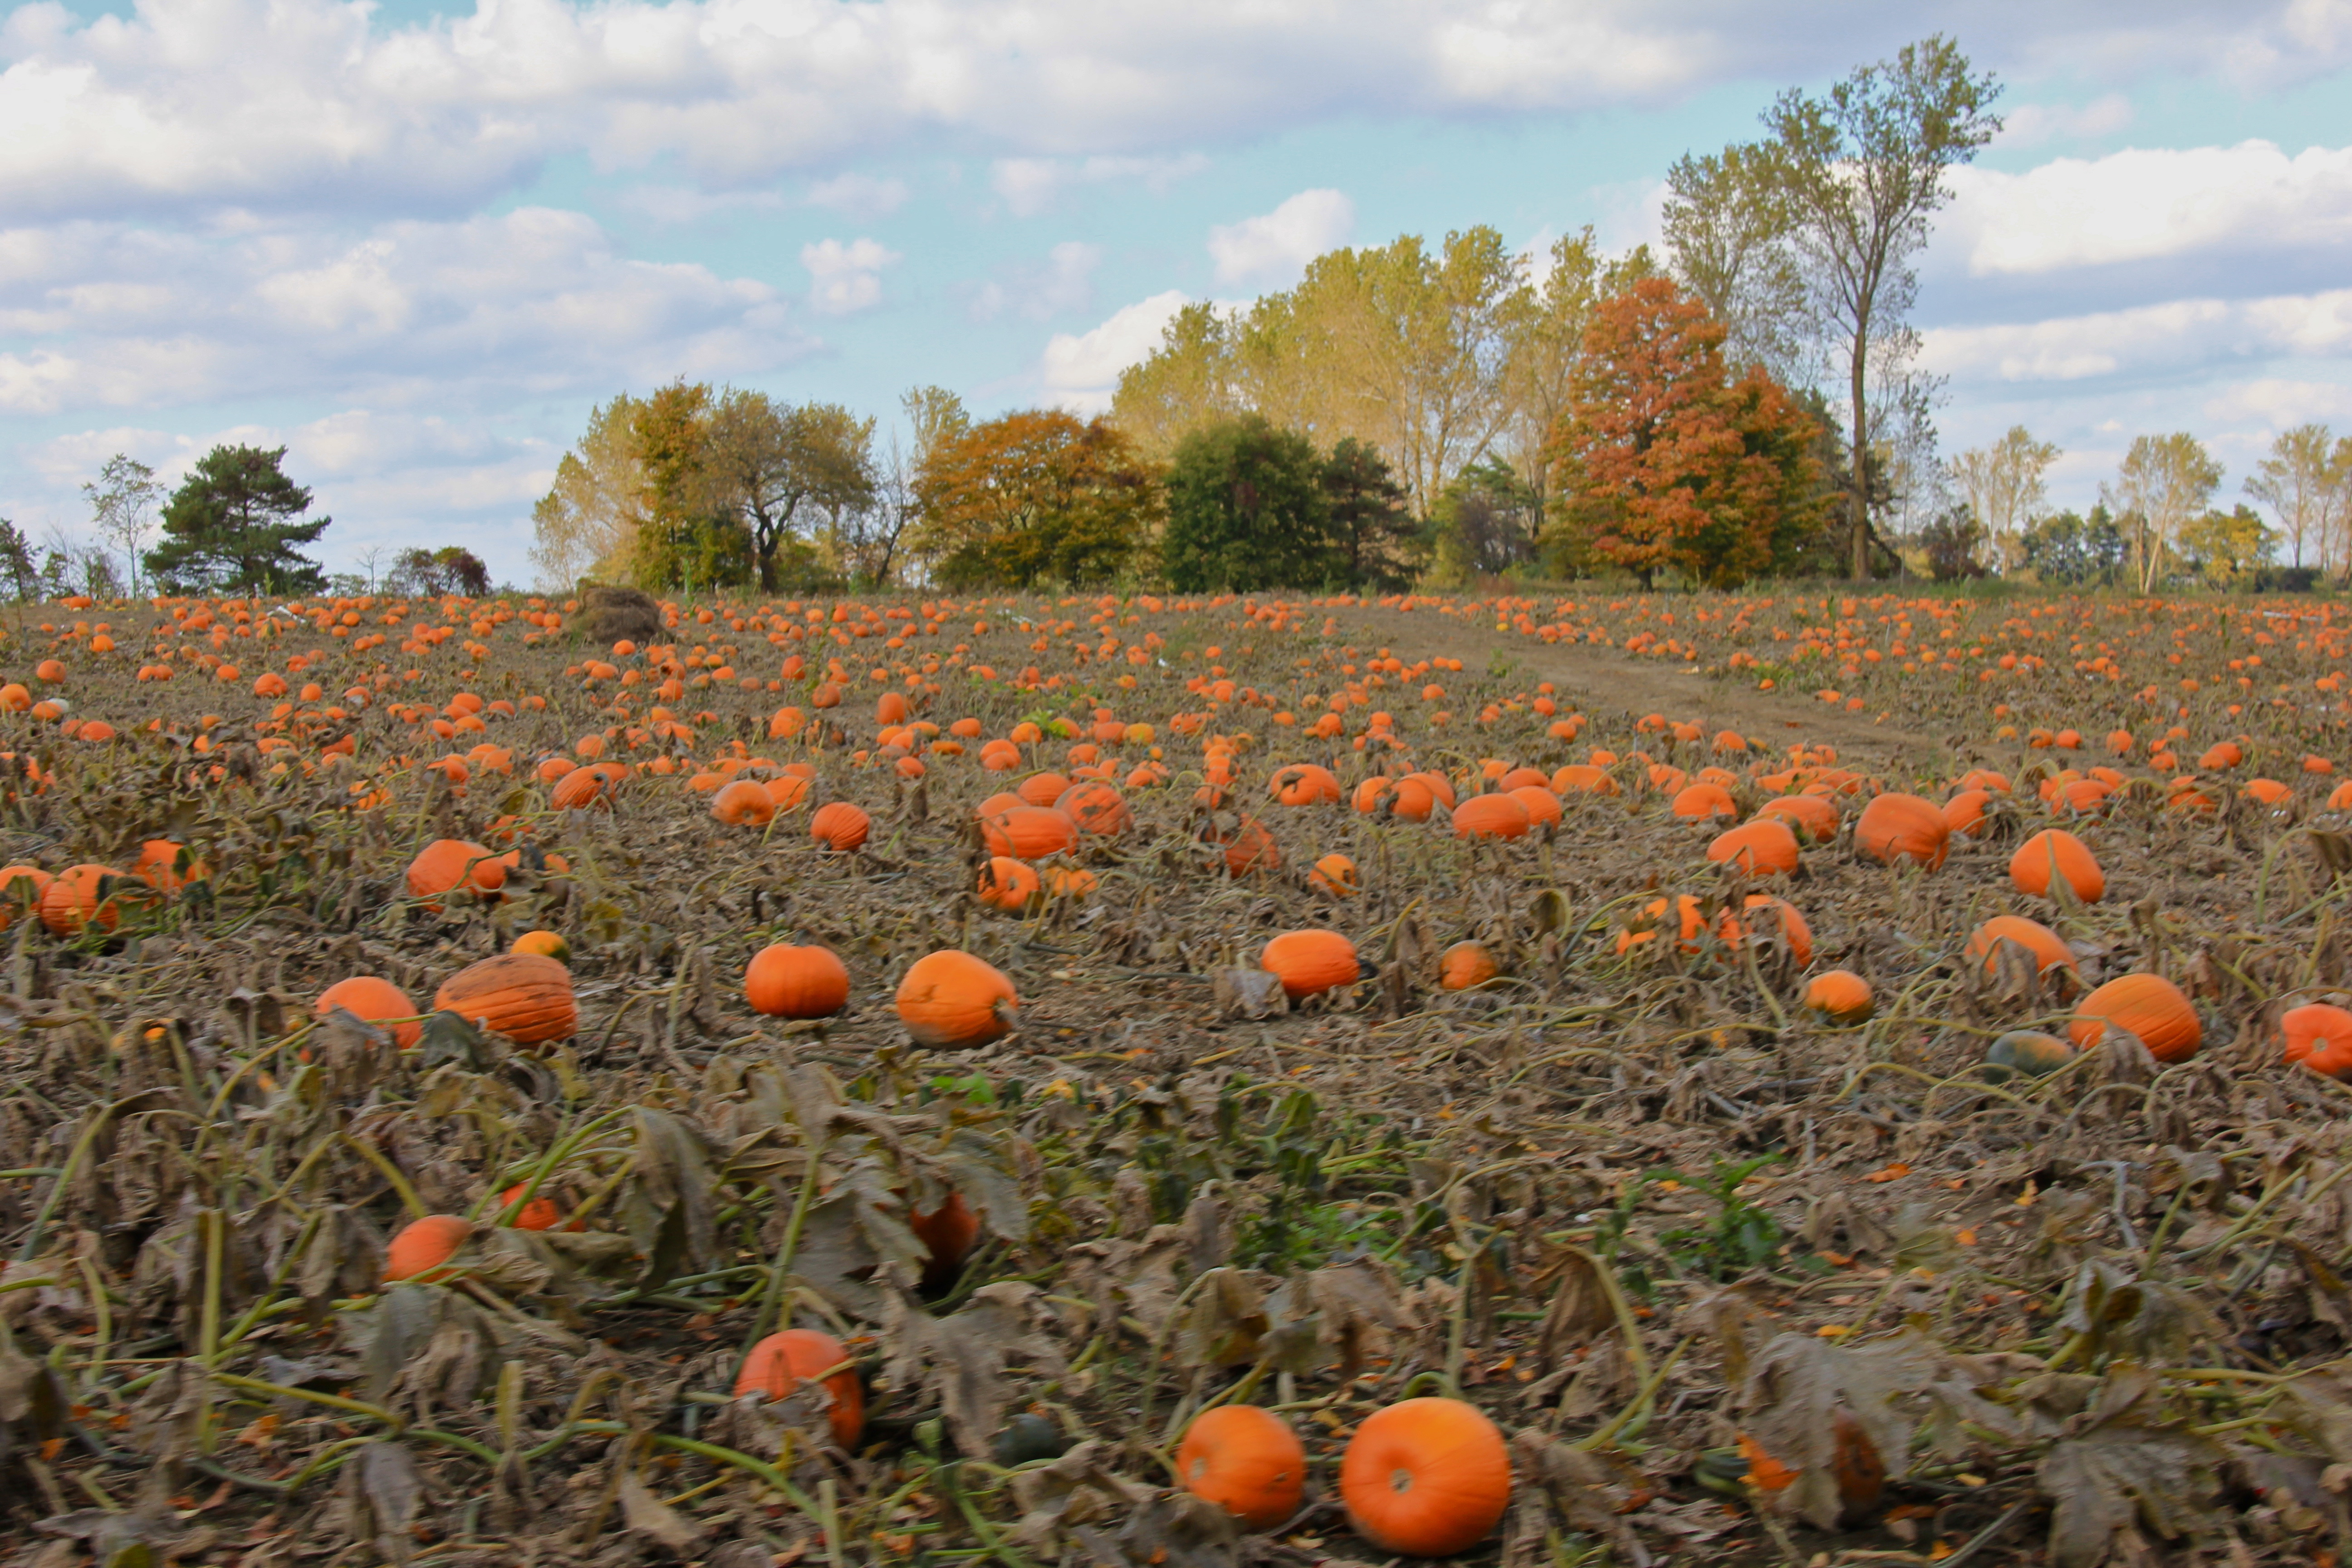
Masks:
[[[2324,597],[0,625],[9,1563],[2333,1563]]]

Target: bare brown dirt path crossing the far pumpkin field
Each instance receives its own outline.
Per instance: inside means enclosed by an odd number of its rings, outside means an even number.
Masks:
[[[1355,609],[1336,616],[1359,649],[1385,646],[1404,661],[1444,654],[1479,670],[1501,651],[1526,670],[1529,686],[1548,679],[1585,712],[1663,712],[1708,729],[1736,729],[1757,745],[1825,741],[1849,762],[1936,769],[1938,776],[1950,771],[1945,764],[1952,745],[1943,736],[1905,729],[1900,712],[1877,722],[1875,712],[1846,712],[1811,693],[1757,691],[1755,684],[1722,682],[1679,661],[1628,658],[1588,642],[1550,644],[1435,611]]]

